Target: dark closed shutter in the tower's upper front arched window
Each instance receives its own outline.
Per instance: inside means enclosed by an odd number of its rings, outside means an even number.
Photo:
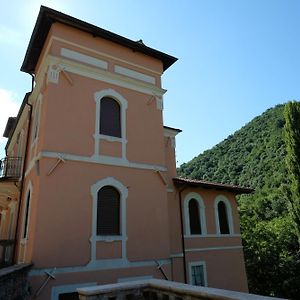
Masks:
[[[100,102],[100,134],[121,137],[120,105],[109,97]]]

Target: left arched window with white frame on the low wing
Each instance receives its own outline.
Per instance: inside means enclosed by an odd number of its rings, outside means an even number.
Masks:
[[[186,235],[206,234],[205,206],[197,193],[189,193],[184,199]]]

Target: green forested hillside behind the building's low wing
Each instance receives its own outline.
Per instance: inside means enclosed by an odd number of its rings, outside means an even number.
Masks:
[[[178,175],[255,189],[238,199],[250,291],[300,299],[299,248],[288,213],[283,111],[284,105],[268,109],[181,165]]]

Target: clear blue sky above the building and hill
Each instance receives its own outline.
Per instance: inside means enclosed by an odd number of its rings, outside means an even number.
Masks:
[[[300,100],[298,0],[15,0],[0,11],[1,134],[31,88],[19,69],[41,4],[179,59],[163,76],[164,123],[183,130],[178,165],[269,107]]]

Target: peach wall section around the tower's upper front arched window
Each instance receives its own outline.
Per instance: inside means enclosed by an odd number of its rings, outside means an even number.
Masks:
[[[45,150],[92,156],[96,123],[94,94],[112,88],[128,101],[127,159],[164,165],[162,113],[156,108],[155,102],[147,105],[149,95],[79,75],[72,74],[72,78],[73,86],[64,79],[57,85],[50,83],[43,97],[43,104],[47,101],[43,133]]]

